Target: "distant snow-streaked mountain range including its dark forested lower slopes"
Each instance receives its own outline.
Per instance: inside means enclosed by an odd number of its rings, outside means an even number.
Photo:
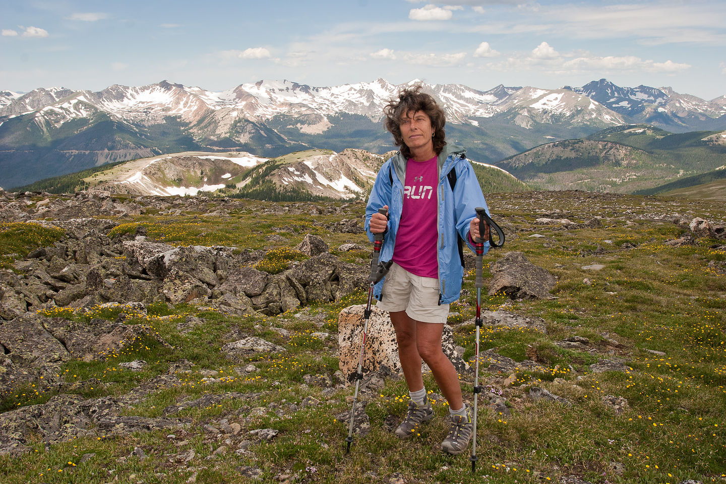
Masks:
[[[406,85],[414,83],[421,82]],[[669,88],[621,88],[604,79],[553,90],[421,84],[445,107],[447,137],[489,163],[627,123],[669,131],[726,128],[726,97],[705,101]],[[403,86],[385,79],[333,87],[259,81],[215,92],[161,81],[96,92],[0,91],[0,185],[169,152],[382,153],[393,148],[382,110]]]

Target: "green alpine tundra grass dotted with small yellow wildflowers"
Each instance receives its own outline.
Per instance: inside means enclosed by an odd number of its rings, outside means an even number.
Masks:
[[[401,442],[392,430],[405,414],[407,387],[402,378],[387,378],[364,405],[370,433],[356,436],[350,455],[344,456],[348,422],[347,417],[336,416],[349,412],[353,386],[323,390],[309,377],[330,378],[338,369],[338,313],[364,303],[365,294],[356,292],[335,303],[317,303],[278,316],[232,317],[166,303],[148,306],[147,314],[130,313],[126,324],[147,325],[158,338],[134,340],[100,361],[65,364],[63,377],[71,384],[66,393],[86,398],[123,395],[166,374],[174,362],[188,361],[188,369],[176,373],[174,386],[150,393],[124,413],[161,417],[164,409],[181,402],[208,397],[208,403],[181,406],[168,414],[189,419],[187,429],[180,432],[78,437],[52,446],[38,438],[30,442],[31,454],[0,456],[0,482],[509,484],[558,483],[565,478],[590,483],[726,482],[724,241],[698,239],[696,245],[684,247],[664,244],[688,232],[674,219],[701,216],[722,222],[723,205],[583,192],[491,194],[487,201],[507,232],[507,245],[485,256],[485,286],[491,264],[514,250],[546,268],[558,282],[546,300],[510,300],[483,290],[484,311],[505,309],[537,316],[544,319],[547,332],[486,325],[482,329],[482,350],[494,349],[515,361],[530,359],[537,365],[511,375],[488,373],[482,365],[481,385],[506,395],[507,411],[480,406],[476,475],[467,453],[448,456],[438,450],[446,435],[448,409],[431,374],[425,376],[425,385],[435,419],[414,438]],[[264,202],[250,202],[247,213],[231,213],[228,218],[147,213],[114,230],[133,233],[142,227],[150,239],[174,245],[265,249],[266,263],[258,267],[272,272],[301,260],[295,246],[311,233],[325,239],[335,255],[359,263],[367,272],[371,245],[364,234],[326,229],[341,218],[340,213],[359,218],[362,224],[364,205],[339,205],[342,208],[335,213],[314,206],[318,215],[303,218],[265,213],[269,205]],[[602,217],[599,225],[571,229],[537,223],[547,217],[584,224],[596,216]],[[45,243],[45,235],[33,237],[20,248],[0,239],[0,255],[4,260],[19,258],[33,245]],[[347,242],[364,249],[340,252],[337,247]],[[588,268],[595,264],[602,267]],[[455,342],[465,348],[470,364],[475,337],[473,286],[474,274],[468,271],[462,299],[452,305],[449,319],[455,324]],[[49,316],[115,320],[122,312],[129,310],[58,308]],[[187,316],[199,316],[203,323],[180,332],[176,322]],[[285,351],[230,361],[220,348],[233,335],[262,337]],[[555,344],[573,336],[587,338],[590,345],[578,349]],[[627,371],[591,372],[590,365],[603,358],[621,358]],[[142,372],[120,366],[138,359],[148,363]],[[473,374],[461,374],[460,379],[465,398],[470,398]],[[54,393],[41,383],[2,389],[1,410],[48,401]],[[550,390],[568,403],[533,401],[527,397],[531,387]],[[225,397],[232,394],[248,398]],[[608,398],[627,402],[621,413],[605,404]],[[229,446],[214,438],[210,427],[223,419],[236,425],[239,435],[248,436],[244,445]],[[266,440],[249,433],[267,429],[277,435]]]

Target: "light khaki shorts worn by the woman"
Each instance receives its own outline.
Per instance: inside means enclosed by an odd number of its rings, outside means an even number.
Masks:
[[[375,305],[383,311],[406,311],[423,323],[446,323],[449,305],[439,305],[439,279],[411,274],[393,263],[383,281],[383,300]]]

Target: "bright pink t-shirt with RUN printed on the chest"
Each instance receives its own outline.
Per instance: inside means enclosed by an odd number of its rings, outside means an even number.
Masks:
[[[404,207],[393,247],[393,262],[411,274],[436,279],[439,278],[439,261],[436,258],[439,240],[436,226],[438,182],[436,157],[423,162],[408,160]]]

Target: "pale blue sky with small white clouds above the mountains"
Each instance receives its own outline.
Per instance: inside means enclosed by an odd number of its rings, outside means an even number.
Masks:
[[[724,0],[0,0],[0,89],[607,78],[726,94]]]

